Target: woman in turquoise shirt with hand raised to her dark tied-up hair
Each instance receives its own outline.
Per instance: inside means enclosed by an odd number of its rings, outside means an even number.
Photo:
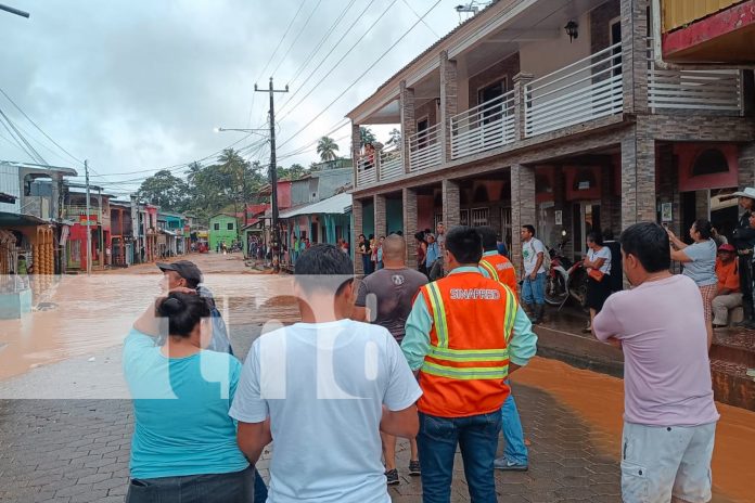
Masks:
[[[157,334],[155,313],[168,322],[163,345],[144,333]],[[254,501],[254,467],[228,415],[241,363],[204,350],[210,337],[206,300],[177,292],[148,309],[126,337],[124,374],[135,411],[127,503]]]

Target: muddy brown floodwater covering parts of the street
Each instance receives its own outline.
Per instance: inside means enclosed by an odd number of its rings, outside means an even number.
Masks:
[[[291,276],[256,272],[245,267],[238,254],[189,258],[205,272],[205,284],[215,294],[240,358],[245,357],[254,337],[251,334],[258,334],[260,326],[298,319],[291,297]],[[133,320],[159,293],[159,280],[154,265],[89,278],[63,278],[50,296],[49,301],[54,305],[51,310],[34,312],[20,321],[0,322],[0,389],[7,384],[8,396],[25,392],[28,398],[39,398],[40,388],[61,385],[61,391],[51,391],[54,397],[78,397],[89,386],[81,387],[89,378],[102,384],[98,398],[128,399],[123,384],[115,383],[120,379],[118,346]],[[93,354],[97,361],[89,363]],[[542,435],[554,428],[558,431],[551,431],[553,435],[562,435],[559,428],[564,426],[551,424],[554,420],[542,415],[554,414],[553,408],[563,410],[571,417],[570,424],[583,425],[585,442],[591,446],[593,455],[612,463],[618,461],[624,410],[622,379],[535,358],[512,381],[515,392],[517,387],[522,391],[517,401],[525,411],[524,429],[534,449],[534,463],[545,455]],[[66,387],[66,383],[71,386]],[[713,501],[753,502],[755,495],[747,474],[755,473],[755,413],[720,403],[717,407],[721,420],[713,460]],[[564,437],[571,435],[568,428],[563,430]]]

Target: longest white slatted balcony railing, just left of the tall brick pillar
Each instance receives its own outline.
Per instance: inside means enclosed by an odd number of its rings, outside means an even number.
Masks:
[[[525,87],[525,136],[534,137],[624,109],[622,43]]]

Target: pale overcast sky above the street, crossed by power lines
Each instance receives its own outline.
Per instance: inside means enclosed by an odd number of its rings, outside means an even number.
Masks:
[[[0,11],[0,89],[76,158],[89,159],[97,173],[92,182],[114,193],[136,190],[150,171],[201,159],[244,137],[214,133],[215,126],[265,127],[268,96],[255,96],[253,89],[255,82],[267,88],[271,75],[276,88],[290,83],[292,91],[276,96],[279,156],[307,145],[329,132],[438,35],[459,24],[453,10],[459,0],[439,0],[425,17],[426,25],[418,24],[344,92],[418,22],[412,9],[421,16],[438,0],[355,0],[322,49],[308,60],[350,0],[304,0],[304,4],[302,0],[1,1],[30,12],[31,17]],[[378,21],[386,9],[387,14]],[[287,36],[265,69],[292,20]],[[293,79],[297,72],[300,75]],[[315,88],[323,76],[324,81]],[[293,106],[313,88],[302,104]],[[286,104],[290,96],[293,100]],[[283,144],[337,96],[310,127]],[[84,175],[81,166],[46,140],[2,95],[0,108],[48,163],[75,167]],[[384,136],[385,128],[380,133]],[[348,134],[348,127],[331,134],[347,137],[338,141],[342,155],[349,152]],[[0,159],[30,160],[9,140],[9,132],[0,126]],[[236,146],[253,141],[255,137]],[[246,152],[251,159],[268,156],[268,151]],[[279,164],[308,166],[316,159],[312,151]],[[182,173],[182,169],[176,172]]]

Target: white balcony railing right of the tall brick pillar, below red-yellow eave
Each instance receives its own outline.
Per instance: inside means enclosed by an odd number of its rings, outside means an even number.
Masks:
[[[661,69],[648,41],[648,106],[657,109],[742,111],[742,79],[737,69]]]

